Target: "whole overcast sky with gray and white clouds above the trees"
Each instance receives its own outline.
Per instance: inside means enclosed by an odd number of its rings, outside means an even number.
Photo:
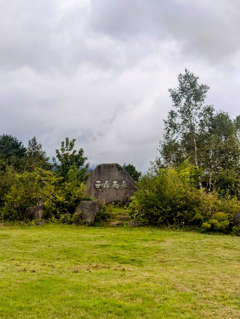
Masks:
[[[1,0],[0,134],[146,171],[185,67],[240,114],[239,0]]]

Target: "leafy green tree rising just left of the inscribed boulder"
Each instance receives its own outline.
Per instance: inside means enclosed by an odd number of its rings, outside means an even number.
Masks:
[[[69,137],[66,137],[65,142],[62,141],[61,149],[56,150],[56,157],[60,164],[57,163],[55,157],[53,157],[53,163],[56,172],[63,177],[64,182],[68,179],[69,169],[76,167],[78,169],[78,179],[85,181],[86,171],[89,167],[89,163],[85,164],[87,157],[84,156],[84,150],[81,148],[79,151],[73,150],[76,138],[69,141]]]

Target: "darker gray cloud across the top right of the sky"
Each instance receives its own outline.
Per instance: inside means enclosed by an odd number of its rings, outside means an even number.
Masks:
[[[182,41],[185,52],[223,59],[239,51],[238,1],[92,2],[91,25],[96,32],[127,40],[136,34]]]

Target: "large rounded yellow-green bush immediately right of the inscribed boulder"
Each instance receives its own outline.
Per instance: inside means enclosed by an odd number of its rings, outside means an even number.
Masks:
[[[193,187],[195,170],[186,163],[178,169],[162,168],[144,175],[130,205],[134,216],[153,225],[195,224],[204,201],[203,192]]]

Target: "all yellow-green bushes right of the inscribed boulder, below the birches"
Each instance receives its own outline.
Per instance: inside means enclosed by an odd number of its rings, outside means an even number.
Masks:
[[[184,163],[178,168],[148,172],[138,182],[129,207],[137,219],[147,219],[152,225],[197,226],[203,231],[229,232],[239,201],[220,198],[217,192],[206,194],[196,189],[196,167]]]

